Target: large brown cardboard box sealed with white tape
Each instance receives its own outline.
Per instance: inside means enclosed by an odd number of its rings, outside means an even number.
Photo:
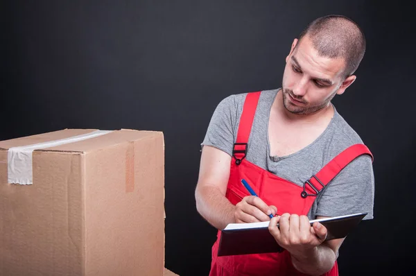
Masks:
[[[0,275],[164,275],[162,132],[60,130],[0,141]]]

